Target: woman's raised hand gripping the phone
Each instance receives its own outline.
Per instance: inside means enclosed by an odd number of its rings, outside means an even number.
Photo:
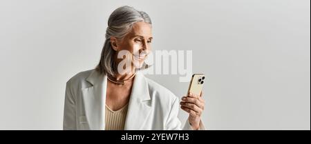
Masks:
[[[198,130],[200,127],[201,115],[204,110],[205,101],[202,99],[202,93],[200,96],[189,93],[187,96],[182,96],[180,107],[189,113],[189,123],[194,130]]]

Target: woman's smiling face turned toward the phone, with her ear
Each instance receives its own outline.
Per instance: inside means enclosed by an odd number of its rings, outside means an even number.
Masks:
[[[152,39],[151,24],[134,23],[131,32],[126,34],[123,39],[111,38],[113,49],[119,52],[119,57],[116,55],[115,61],[120,64],[120,61],[126,59],[126,62],[131,63],[134,68],[141,68],[147,55],[151,52]],[[124,52],[127,52],[126,56],[120,57],[120,55],[124,55]]]

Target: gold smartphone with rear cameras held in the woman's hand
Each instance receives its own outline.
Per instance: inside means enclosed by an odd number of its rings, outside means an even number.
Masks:
[[[191,92],[192,94],[200,96],[204,81],[204,74],[193,74],[189,84],[188,93]]]

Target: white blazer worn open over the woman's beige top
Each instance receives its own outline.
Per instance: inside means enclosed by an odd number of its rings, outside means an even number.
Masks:
[[[104,130],[107,77],[96,70],[79,72],[66,83],[64,130]],[[192,130],[178,119],[179,99],[137,72],[124,130]],[[202,121],[200,130],[205,130]]]

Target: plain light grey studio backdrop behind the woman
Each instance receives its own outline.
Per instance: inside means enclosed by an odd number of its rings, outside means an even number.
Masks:
[[[62,129],[66,81],[95,67],[124,5],[149,13],[154,50],[193,50],[208,130],[310,130],[309,0],[0,0],[1,130]],[[187,92],[178,75],[149,77]]]

